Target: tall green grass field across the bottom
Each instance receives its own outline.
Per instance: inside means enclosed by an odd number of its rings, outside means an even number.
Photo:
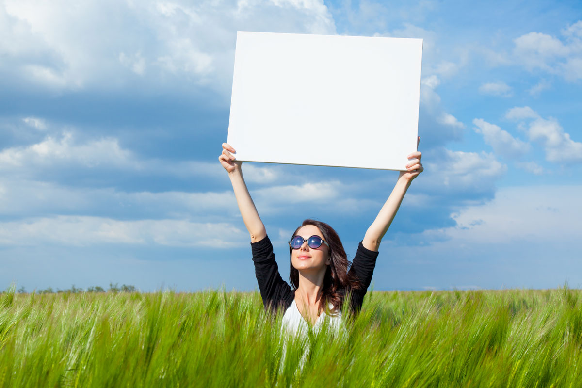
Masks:
[[[581,296],[374,291],[345,332],[301,340],[258,293],[12,289],[0,387],[580,387]]]

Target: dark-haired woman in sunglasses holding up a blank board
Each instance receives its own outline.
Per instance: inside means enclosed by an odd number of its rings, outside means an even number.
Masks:
[[[420,137],[418,137],[420,141]],[[242,162],[235,149],[222,144],[218,160],[226,169],[235,191],[244,225],[251,236],[255,274],[265,308],[282,308],[283,325],[296,329],[307,323],[320,326],[324,314],[332,326],[339,325],[343,301],[350,294],[350,309],[357,313],[372,279],[382,237],[392,223],[411,181],[423,172],[421,152],[408,156],[406,171],[400,172],[396,186],[360,242],[349,272],[346,252],[335,230],[323,222],[305,220],[289,240],[290,276],[293,289],[279,275],[273,247],[253,200],[244,183]]]

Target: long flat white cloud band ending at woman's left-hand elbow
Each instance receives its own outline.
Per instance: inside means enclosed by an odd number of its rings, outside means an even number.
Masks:
[[[0,245],[90,246],[98,244],[232,248],[249,235],[230,223],[189,220],[122,221],[90,216],[56,216],[0,222]]]

